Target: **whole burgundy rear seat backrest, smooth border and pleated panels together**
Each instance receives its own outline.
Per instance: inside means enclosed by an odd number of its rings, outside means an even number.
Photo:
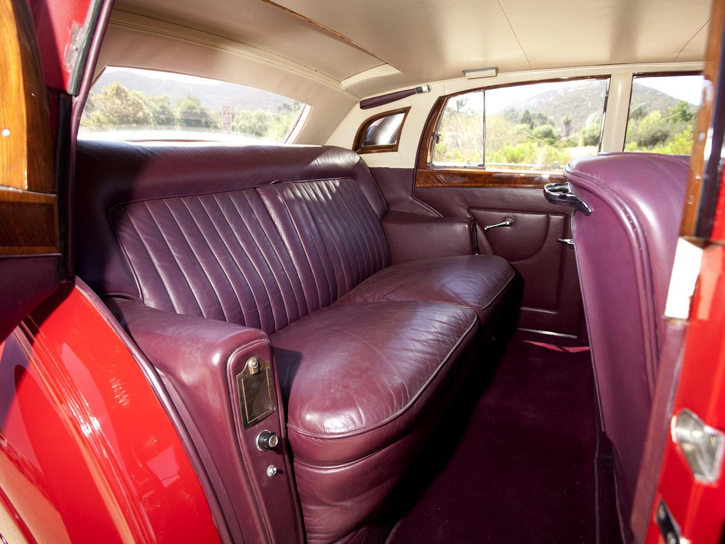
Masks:
[[[345,149],[86,141],[76,178],[76,273],[101,295],[272,333],[389,263]]]

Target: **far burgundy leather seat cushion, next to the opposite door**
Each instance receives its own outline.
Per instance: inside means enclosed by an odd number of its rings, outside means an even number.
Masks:
[[[490,321],[513,280],[511,265],[495,255],[460,255],[389,266],[352,289],[337,304],[425,300],[470,308]]]

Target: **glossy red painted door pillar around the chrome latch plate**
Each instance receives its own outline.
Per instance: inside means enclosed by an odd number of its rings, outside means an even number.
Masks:
[[[722,203],[722,198],[721,198]],[[674,413],[683,408],[706,424],[725,429],[725,246],[705,249],[700,283],[692,308]],[[679,445],[668,437],[658,497],[663,497],[682,536],[692,543],[718,543],[725,522],[724,475],[714,485],[696,482]],[[661,541],[653,518],[647,543]]]

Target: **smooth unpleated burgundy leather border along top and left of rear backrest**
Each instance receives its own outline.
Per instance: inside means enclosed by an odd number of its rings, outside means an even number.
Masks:
[[[357,197],[363,195],[366,208],[373,210],[379,223],[388,206],[365,162],[349,149],[80,141],[71,236],[76,271],[100,294],[141,302],[138,278],[133,277],[128,259],[119,251],[116,225],[109,222],[112,208],[155,199],[253,190],[273,182],[340,178],[354,181]],[[250,202],[251,195],[250,191]],[[266,226],[265,232],[271,233]],[[278,249],[283,247],[281,244]]]

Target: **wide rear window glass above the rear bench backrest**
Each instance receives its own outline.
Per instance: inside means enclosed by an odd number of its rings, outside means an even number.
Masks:
[[[107,67],[91,88],[80,137],[283,142],[307,110],[302,102],[254,87]]]

